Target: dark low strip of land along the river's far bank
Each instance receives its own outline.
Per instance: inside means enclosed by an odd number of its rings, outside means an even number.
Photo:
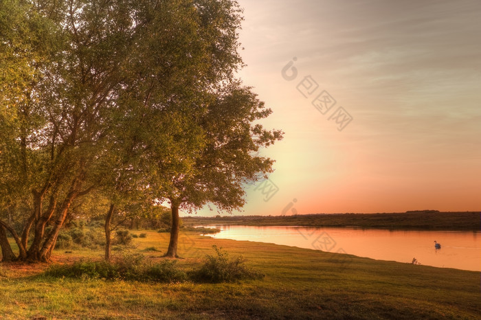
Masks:
[[[418,212],[390,214],[306,214],[296,216],[184,216],[184,225],[252,225],[349,227],[361,229],[481,231],[481,212]]]

